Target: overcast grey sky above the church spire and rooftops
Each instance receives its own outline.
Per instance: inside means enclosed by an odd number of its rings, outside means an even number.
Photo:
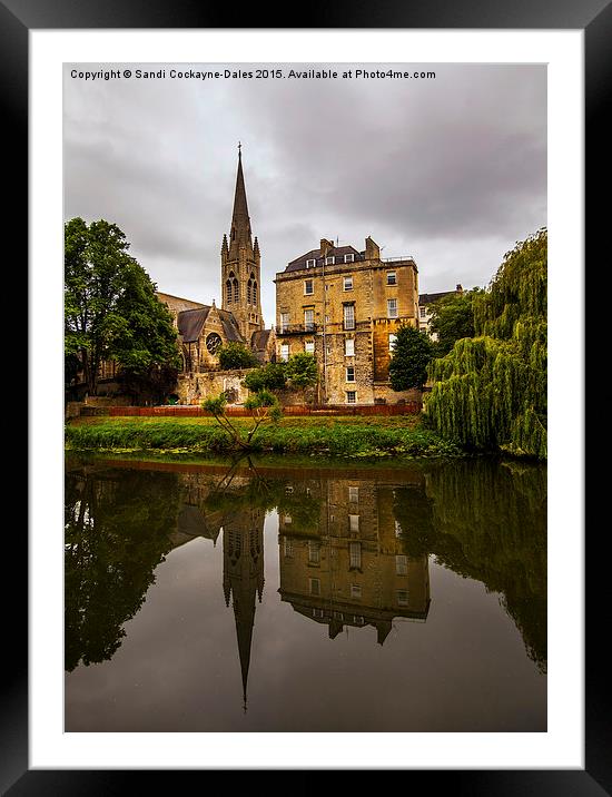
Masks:
[[[219,303],[219,253],[243,166],[261,249],[277,272],[322,237],[413,255],[421,293],[485,286],[546,224],[546,67],[267,65],[433,70],[425,79],[172,79],[170,69],[263,65],[66,65],[65,218],[116,223],[160,291]],[[129,68],[131,79],[73,79]],[[166,69],[136,79],[137,69]]]

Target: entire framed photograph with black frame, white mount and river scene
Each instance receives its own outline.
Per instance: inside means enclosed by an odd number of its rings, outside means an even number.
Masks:
[[[103,793],[121,788],[113,770],[168,769],[610,789],[575,376],[567,400],[610,7],[335,9],[282,29],[187,2],[13,4],[1,52],[29,174],[31,465],[4,790]],[[103,249],[93,276],[85,247]],[[100,312],[115,257],[124,282]],[[437,436],[455,340],[507,323],[491,291],[530,305],[549,456],[535,413],[505,461]],[[79,321],[93,307],[98,342]],[[466,307],[475,327],[448,332]],[[438,371],[406,377],[404,337]],[[414,426],[423,405],[435,431]]]

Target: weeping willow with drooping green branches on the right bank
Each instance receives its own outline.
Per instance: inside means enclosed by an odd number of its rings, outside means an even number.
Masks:
[[[432,361],[426,414],[445,437],[546,459],[546,250],[540,229],[474,299],[475,337]]]

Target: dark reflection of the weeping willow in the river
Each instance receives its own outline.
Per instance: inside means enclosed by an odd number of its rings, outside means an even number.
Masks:
[[[482,581],[546,670],[546,469],[462,460],[428,470],[425,489],[396,491],[407,549]]]

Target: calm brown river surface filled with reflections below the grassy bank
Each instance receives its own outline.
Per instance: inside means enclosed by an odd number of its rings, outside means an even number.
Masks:
[[[67,731],[545,731],[546,472],[67,462]]]

